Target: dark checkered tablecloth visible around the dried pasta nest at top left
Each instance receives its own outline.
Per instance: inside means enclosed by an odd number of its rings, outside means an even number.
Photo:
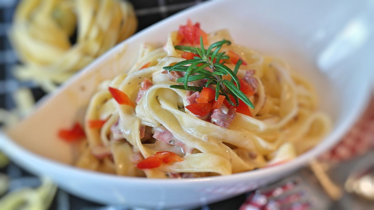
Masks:
[[[160,21],[180,10],[205,0],[129,0],[138,17],[138,31]],[[18,81],[12,74],[12,66],[17,63],[15,52],[7,38],[13,12],[18,0],[0,0],[0,108],[13,109],[12,93],[22,87],[30,88],[34,98],[39,100],[45,92],[31,81]]]

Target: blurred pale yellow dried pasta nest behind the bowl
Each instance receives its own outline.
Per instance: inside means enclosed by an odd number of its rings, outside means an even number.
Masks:
[[[9,34],[23,63],[15,75],[50,92],[134,34],[137,23],[127,1],[22,0]]]

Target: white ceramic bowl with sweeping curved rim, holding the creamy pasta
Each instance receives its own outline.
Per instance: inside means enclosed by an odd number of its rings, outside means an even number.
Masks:
[[[255,189],[286,176],[330,148],[359,117],[370,95],[373,61],[373,1],[208,1],[128,38],[39,103],[36,111],[0,136],[0,148],[61,188],[104,204],[192,208]],[[211,32],[228,28],[236,43],[279,57],[316,87],[320,108],[334,126],[322,142],[281,166],[193,179],[120,177],[71,166],[74,145],[59,140],[62,127],[82,118],[96,84],[126,71],[143,42],[163,44],[166,35],[199,21]],[[370,47],[371,46],[371,47]],[[371,67],[371,68],[370,68]]]

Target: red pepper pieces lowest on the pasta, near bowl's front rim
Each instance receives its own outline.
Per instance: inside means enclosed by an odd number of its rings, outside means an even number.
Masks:
[[[163,151],[157,152],[156,154],[151,155],[145,158],[144,160],[140,161],[137,164],[137,167],[139,169],[153,169],[161,166],[162,162],[168,164],[176,161],[183,161],[183,159],[174,152]]]

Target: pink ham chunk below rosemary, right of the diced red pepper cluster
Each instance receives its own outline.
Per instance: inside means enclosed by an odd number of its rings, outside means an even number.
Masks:
[[[229,109],[224,104],[219,109],[214,109],[211,115],[211,122],[224,128],[229,127],[236,115],[235,109]]]

